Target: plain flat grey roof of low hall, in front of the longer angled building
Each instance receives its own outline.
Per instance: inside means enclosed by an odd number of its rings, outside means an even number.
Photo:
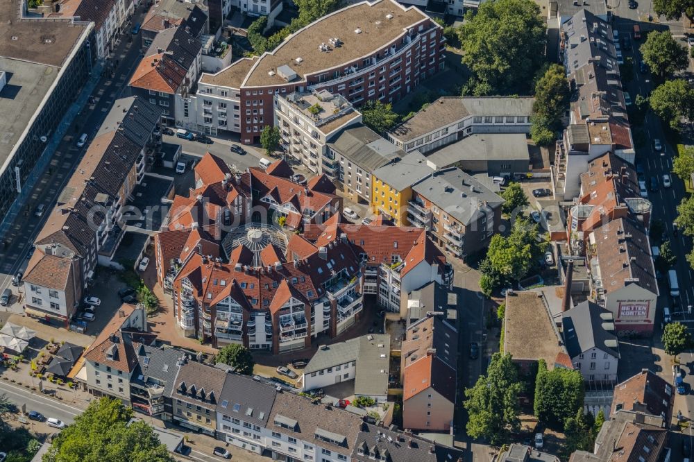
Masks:
[[[527,160],[530,152],[523,133],[481,133],[443,146],[429,157],[437,168],[476,160]]]

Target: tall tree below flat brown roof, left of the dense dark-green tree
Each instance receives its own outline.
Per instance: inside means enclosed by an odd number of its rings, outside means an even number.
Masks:
[[[494,353],[486,373],[465,390],[466,430],[469,436],[487,438],[496,445],[521,428],[518,393],[523,385],[510,354]]]

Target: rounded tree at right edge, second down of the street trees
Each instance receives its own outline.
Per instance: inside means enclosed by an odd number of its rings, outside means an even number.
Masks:
[[[682,78],[668,80],[653,90],[650,107],[670,128],[679,131],[682,119],[694,119],[694,89]]]

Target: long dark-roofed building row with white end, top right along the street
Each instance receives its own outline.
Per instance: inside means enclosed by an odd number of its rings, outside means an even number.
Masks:
[[[564,67],[575,96],[569,125],[557,142],[552,181],[556,194],[579,193],[579,176],[608,151],[634,163],[634,142],[620,83],[610,22],[581,9],[561,24]]]

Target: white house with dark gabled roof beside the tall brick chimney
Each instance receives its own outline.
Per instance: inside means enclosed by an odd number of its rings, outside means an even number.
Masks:
[[[617,382],[619,346],[610,311],[590,301],[561,314],[561,335],[573,368],[586,382]]]

